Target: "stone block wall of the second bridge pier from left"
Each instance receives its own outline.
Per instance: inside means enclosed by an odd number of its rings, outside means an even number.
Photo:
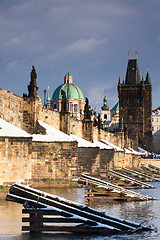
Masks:
[[[77,177],[77,142],[32,142],[32,185]]]

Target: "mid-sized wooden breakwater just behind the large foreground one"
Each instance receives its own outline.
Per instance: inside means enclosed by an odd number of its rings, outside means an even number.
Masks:
[[[147,201],[155,198],[142,195],[140,193],[125,189],[121,186],[104,181],[88,174],[81,174],[79,183],[85,184],[87,187],[86,199],[112,199],[125,201]]]

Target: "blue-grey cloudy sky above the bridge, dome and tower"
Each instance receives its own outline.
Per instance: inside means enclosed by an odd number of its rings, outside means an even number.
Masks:
[[[153,109],[160,106],[160,0],[0,0],[0,88],[28,93],[35,66],[38,94],[50,97],[69,71],[100,111],[106,88],[110,109],[126,74],[128,51],[147,66]]]

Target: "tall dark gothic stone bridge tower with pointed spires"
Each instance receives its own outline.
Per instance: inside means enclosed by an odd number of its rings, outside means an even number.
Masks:
[[[118,82],[119,126],[125,145],[152,150],[152,85],[147,70],[140,79],[137,59],[129,59],[125,82]]]

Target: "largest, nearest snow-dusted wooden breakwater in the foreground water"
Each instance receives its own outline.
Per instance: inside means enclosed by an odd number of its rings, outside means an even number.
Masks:
[[[22,184],[14,184],[6,200],[23,204],[22,213],[29,214],[22,218],[29,223],[22,231],[108,235],[152,230]]]

